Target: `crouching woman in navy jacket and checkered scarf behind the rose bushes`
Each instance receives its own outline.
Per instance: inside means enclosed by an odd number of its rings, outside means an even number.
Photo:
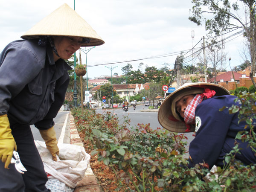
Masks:
[[[256,156],[247,147],[248,143],[235,140],[239,131],[246,130],[245,122],[238,123],[239,112],[219,111],[224,106],[239,105],[234,102],[236,98],[218,84],[188,83],[162,103],[158,121],[163,128],[180,133],[195,131],[195,138],[189,145],[188,167],[197,163],[207,163],[209,169],[214,165],[223,167],[224,156],[232,150],[235,141],[241,148],[236,160],[245,165],[256,163]]]

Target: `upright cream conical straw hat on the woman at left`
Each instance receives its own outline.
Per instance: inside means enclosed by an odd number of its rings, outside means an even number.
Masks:
[[[96,31],[67,4],[63,4],[42,19],[21,38],[32,39],[44,35],[90,38],[90,43],[84,43],[81,47],[97,46],[105,43]]]

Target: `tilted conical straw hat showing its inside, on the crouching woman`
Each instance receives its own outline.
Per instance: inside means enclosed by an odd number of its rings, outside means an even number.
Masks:
[[[204,92],[204,88],[215,90],[215,96],[230,95],[229,91],[219,84],[213,83],[185,83],[173,93],[171,93],[160,105],[158,111],[158,121],[163,128],[178,133],[186,131],[185,122],[183,122],[176,113],[175,103],[183,96],[200,94]],[[191,127],[191,132],[195,130],[195,126]]]

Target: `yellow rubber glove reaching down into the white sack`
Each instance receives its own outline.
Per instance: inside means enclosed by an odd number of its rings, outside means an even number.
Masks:
[[[59,149],[57,146],[58,142],[56,139],[56,134],[55,134],[54,128],[51,127],[49,129],[39,130],[39,131],[40,131],[42,138],[45,141],[45,145],[46,145],[47,149],[52,154],[52,160],[57,161],[56,155],[58,155]]]

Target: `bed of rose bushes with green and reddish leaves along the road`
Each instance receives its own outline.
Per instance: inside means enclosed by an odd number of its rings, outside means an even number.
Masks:
[[[250,131],[241,131],[236,139],[249,141],[255,152],[256,136],[253,119],[256,119],[255,93],[239,92],[241,106],[228,108],[230,113],[239,112],[240,121],[245,121]],[[224,106],[220,110],[227,110]],[[96,113],[76,108],[72,114],[84,140],[90,141],[92,156],[97,155],[116,173],[115,191],[173,192],[173,191],[224,191],[248,192],[256,190],[256,166],[244,166],[234,158],[239,146],[225,157],[225,166],[209,170],[201,162],[188,169],[184,154],[186,137],[166,130],[153,130],[149,124],[129,126],[129,119],[123,123],[113,113]],[[113,184],[112,184],[113,185]],[[107,190],[108,191],[108,190]]]

